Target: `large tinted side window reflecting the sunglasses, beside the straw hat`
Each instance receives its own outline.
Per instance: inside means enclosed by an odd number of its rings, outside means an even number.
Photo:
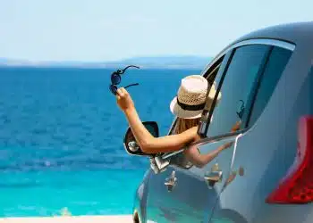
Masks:
[[[216,84],[222,84],[221,98],[213,112],[207,136],[229,133],[235,123],[242,120],[247,112],[250,93],[264,68],[269,50],[268,45],[241,46],[234,52],[224,78],[217,75]]]

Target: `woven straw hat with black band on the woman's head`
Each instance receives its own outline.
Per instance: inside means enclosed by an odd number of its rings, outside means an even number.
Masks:
[[[216,86],[213,85],[207,95],[207,79],[201,75],[190,75],[182,78],[181,87],[178,89],[177,96],[170,104],[172,113],[182,119],[200,118],[205,107],[209,108],[216,95]],[[207,98],[207,100],[206,100]],[[221,98],[218,94],[217,103]]]

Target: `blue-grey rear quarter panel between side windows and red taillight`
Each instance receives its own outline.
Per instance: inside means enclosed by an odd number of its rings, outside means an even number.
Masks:
[[[232,169],[243,168],[245,174],[236,176],[224,189],[211,222],[312,222],[307,219],[313,212],[311,204],[265,202],[292,166],[300,116],[312,113],[308,95],[313,95],[312,73],[309,74],[313,48],[304,46],[296,46],[266,109],[239,140]]]

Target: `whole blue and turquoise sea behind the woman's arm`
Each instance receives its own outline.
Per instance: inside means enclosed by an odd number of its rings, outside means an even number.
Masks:
[[[128,123],[110,69],[0,68],[0,218],[131,214],[148,158],[123,148]],[[181,79],[200,70],[130,69],[120,86],[166,135]]]

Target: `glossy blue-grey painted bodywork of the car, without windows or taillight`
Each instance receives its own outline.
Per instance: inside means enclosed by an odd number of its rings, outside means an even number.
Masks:
[[[149,171],[143,181],[144,195],[137,196],[135,204],[140,206],[142,222],[313,222],[313,204],[266,203],[266,196],[294,160],[300,116],[313,114],[313,22],[259,29],[243,36],[227,45],[202,75],[229,48],[248,40],[273,40],[294,48],[265,109],[242,135],[238,132],[217,142],[204,139],[199,145],[201,153],[238,140],[204,168],[170,165],[159,174]],[[210,189],[205,177],[216,163],[223,170],[223,180]],[[173,171],[178,181],[168,192],[165,180]]]

